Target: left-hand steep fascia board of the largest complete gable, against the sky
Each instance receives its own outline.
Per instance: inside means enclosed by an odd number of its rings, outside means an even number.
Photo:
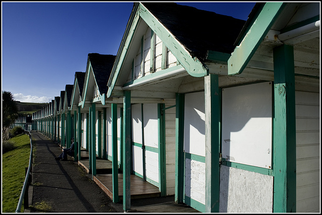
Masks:
[[[128,26],[130,26],[130,28],[128,30],[128,33],[125,32],[125,33],[127,33],[127,34],[125,34],[126,37],[124,37],[122,39],[122,43],[121,43],[121,47],[120,47],[121,52],[118,53],[117,59],[115,60],[114,66],[112,68],[112,73],[111,73],[111,76],[110,76],[110,79],[109,79],[109,82],[108,82],[108,87],[109,87],[109,89],[107,91],[107,97],[108,98],[111,96],[112,91],[114,90],[114,86],[115,86],[117,78],[119,76],[119,73],[120,73],[124,58],[125,58],[125,56],[127,54],[127,51],[129,49],[129,45],[130,45],[130,43],[132,41],[134,32],[136,30],[136,26],[138,25],[138,21],[139,21],[139,18],[140,18],[139,11],[136,10],[135,15],[133,17],[131,17],[131,18],[130,18],[130,20],[132,20],[132,21],[128,25]]]

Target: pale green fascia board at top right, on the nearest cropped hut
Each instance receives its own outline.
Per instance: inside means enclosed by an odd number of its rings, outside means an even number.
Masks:
[[[286,3],[282,2],[266,3],[258,16],[253,18],[255,21],[248,33],[227,61],[228,75],[237,75],[243,72],[285,6]]]

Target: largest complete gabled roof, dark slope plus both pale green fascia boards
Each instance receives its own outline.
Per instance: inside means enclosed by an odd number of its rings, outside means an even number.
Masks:
[[[244,24],[244,20],[175,3],[135,3],[108,82],[107,96],[112,96],[115,86],[124,86],[124,77],[128,76],[120,73],[130,70],[131,58],[136,55],[147,27],[189,75],[204,77],[209,74],[209,61],[226,63]]]

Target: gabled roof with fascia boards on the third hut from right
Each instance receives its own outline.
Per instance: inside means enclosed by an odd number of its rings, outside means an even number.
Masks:
[[[115,61],[115,55],[111,54],[99,54],[89,53],[86,75],[82,94],[82,108],[84,108],[85,102],[92,99],[92,86],[96,84],[101,94],[100,100],[102,104],[105,104],[105,95],[108,87],[107,83],[110,78],[111,70]],[[93,73],[91,73],[93,71]]]

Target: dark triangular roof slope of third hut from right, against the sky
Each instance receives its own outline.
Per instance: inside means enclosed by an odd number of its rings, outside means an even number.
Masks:
[[[116,56],[111,54],[89,53],[88,57],[91,61],[93,73],[100,93],[107,93],[107,83],[109,81]]]

